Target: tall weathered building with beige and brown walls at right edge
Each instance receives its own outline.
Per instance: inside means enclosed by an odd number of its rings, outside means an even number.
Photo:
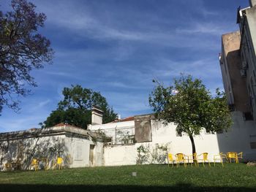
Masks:
[[[233,115],[233,127],[247,134],[238,138],[251,152],[256,150],[256,0],[250,7],[238,8],[239,31],[222,35],[219,64],[227,101]],[[242,133],[242,131],[241,131]],[[225,139],[223,139],[225,141]],[[225,145],[222,145],[225,148]]]

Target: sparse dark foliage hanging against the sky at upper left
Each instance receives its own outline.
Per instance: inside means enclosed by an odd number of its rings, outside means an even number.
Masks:
[[[11,6],[11,12],[0,11],[0,112],[4,105],[19,109],[13,96],[26,96],[27,85],[37,85],[31,70],[53,58],[50,41],[37,32],[44,26],[45,14],[35,12],[34,4],[26,0],[12,0]]]

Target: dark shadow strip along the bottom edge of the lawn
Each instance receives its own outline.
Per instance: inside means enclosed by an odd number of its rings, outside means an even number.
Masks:
[[[141,185],[16,185],[0,184],[0,191],[256,191],[256,188],[244,187],[197,187],[179,183],[173,186],[141,186]]]

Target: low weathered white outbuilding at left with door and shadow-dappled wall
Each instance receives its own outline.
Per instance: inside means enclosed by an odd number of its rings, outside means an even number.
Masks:
[[[102,166],[103,142],[93,142],[88,132],[75,127],[53,127],[0,134],[1,169],[7,162],[16,161],[22,169],[30,169],[32,158],[48,158],[50,168],[57,157],[64,158],[67,167]],[[91,153],[90,146],[94,146]]]

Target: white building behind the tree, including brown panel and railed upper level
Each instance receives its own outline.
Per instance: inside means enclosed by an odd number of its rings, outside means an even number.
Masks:
[[[251,142],[256,139],[255,123],[244,121],[241,112],[233,112],[233,126],[223,133],[209,134],[202,129],[194,136],[197,155],[214,155],[229,151],[243,152],[243,161],[255,161],[256,150]],[[187,134],[178,134],[175,123],[165,125],[154,115],[137,115],[112,123],[89,125],[90,131],[104,133],[104,166],[135,164],[166,164],[167,153],[192,154],[192,144]],[[254,137],[255,136],[255,137]]]

